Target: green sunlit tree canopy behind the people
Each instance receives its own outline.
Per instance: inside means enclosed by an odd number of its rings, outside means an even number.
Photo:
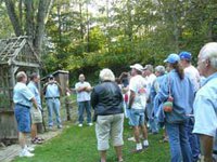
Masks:
[[[11,36],[12,27],[16,36],[25,29],[35,37],[42,1],[1,2],[0,18],[9,27],[0,26],[0,37]],[[10,4],[14,11],[9,12]],[[43,6],[43,70],[69,70],[72,79],[79,72],[95,77],[104,67],[119,75],[135,63],[162,65],[169,53],[183,50],[195,62],[201,46],[217,40],[216,0],[46,0]],[[17,24],[10,24],[13,12]]]

